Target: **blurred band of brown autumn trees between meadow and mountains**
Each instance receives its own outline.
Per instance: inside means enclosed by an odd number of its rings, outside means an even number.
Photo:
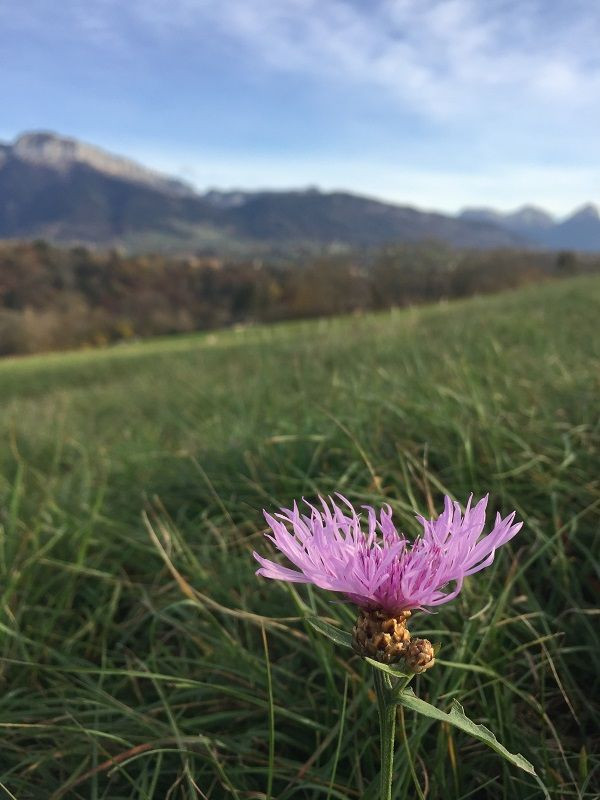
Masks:
[[[302,263],[4,243],[0,355],[402,307],[592,271],[600,272],[600,255],[435,243],[323,253]]]

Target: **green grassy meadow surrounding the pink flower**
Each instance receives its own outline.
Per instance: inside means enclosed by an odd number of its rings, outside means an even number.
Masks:
[[[0,363],[0,797],[376,798],[365,664],[257,579],[261,509],[341,491],[408,534],[444,492],[524,530],[417,680],[598,797],[600,280]],[[268,662],[267,662],[268,656]],[[270,666],[270,670],[268,669]],[[396,798],[541,797],[405,711]],[[409,755],[410,754],[410,755]],[[594,755],[595,754],[595,755]]]

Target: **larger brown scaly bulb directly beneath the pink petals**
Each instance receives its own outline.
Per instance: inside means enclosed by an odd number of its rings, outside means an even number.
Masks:
[[[406,621],[410,611],[391,615],[382,609],[361,608],[352,630],[352,647],[360,656],[383,664],[400,661],[410,641]]]

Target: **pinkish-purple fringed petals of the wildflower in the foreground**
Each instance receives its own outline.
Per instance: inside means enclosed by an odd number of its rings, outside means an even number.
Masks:
[[[487,495],[473,508],[471,498],[464,514],[458,503],[445,498],[444,511],[435,520],[417,517],[423,533],[408,541],[392,522],[384,506],[379,516],[366,506],[366,520],[341,495],[338,502],[320,499],[321,506],[306,503],[308,513],[282,508],[272,516],[267,538],[297,569],[276,564],[258,553],[257,575],[341,592],[362,608],[390,613],[437,606],[453,600],[463,580],[489,567],[496,549],[518,533],[515,512],[496,515],[491,532],[482,536]]]

